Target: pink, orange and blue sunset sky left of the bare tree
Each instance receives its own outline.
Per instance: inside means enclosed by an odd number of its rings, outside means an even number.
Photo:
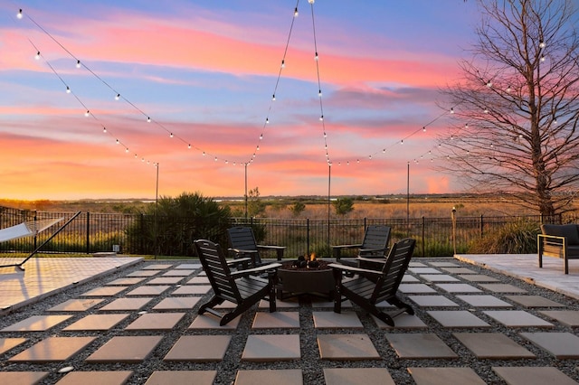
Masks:
[[[0,198],[242,196],[245,175],[262,196],[405,193],[409,163],[412,193],[460,192],[436,171],[439,89],[476,1],[295,7],[2,2]]]

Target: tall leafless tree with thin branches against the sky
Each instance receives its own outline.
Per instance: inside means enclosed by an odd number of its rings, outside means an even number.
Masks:
[[[479,0],[463,79],[443,90],[442,169],[478,192],[543,215],[568,210],[579,184],[579,15],[574,0]]]

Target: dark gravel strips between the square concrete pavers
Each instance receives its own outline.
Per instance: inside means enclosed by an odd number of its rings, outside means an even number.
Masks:
[[[536,295],[536,296],[543,296],[545,298],[551,299],[555,302],[565,305],[566,310],[579,310],[579,304],[573,298],[555,293],[553,291],[547,290],[542,287],[533,286],[528,284],[527,282],[518,280],[514,277],[507,277],[496,272],[492,272],[486,270],[484,268],[480,268],[477,266],[468,265],[464,262],[460,262],[453,258],[427,258],[427,259],[413,259],[414,261],[451,261],[461,267],[467,267],[471,270],[476,271],[479,274],[485,274],[490,277],[496,277],[500,280],[501,283],[511,284],[513,286],[521,287],[527,290],[528,295]],[[117,271],[114,274],[109,276],[100,277],[94,279],[88,283],[82,284],[81,286],[71,287],[63,291],[60,294],[49,296],[44,298],[42,301],[35,303],[33,305],[27,305],[22,308],[19,308],[13,314],[3,315],[0,317],[0,329],[5,328],[8,325],[14,324],[16,322],[22,321],[25,318],[28,318],[31,315],[46,315],[49,314],[46,310],[54,305],[61,304],[62,302],[71,299],[71,298],[78,298],[83,293],[89,291],[92,288],[96,288],[102,286],[114,279],[119,277],[126,277],[128,273],[136,270],[140,270],[142,268],[147,267],[147,265],[157,265],[157,264],[165,264],[165,263],[175,263],[175,265],[182,264],[182,263],[194,263],[191,260],[178,260],[178,261],[143,261],[138,265],[135,265],[130,268],[126,268],[121,271]],[[189,277],[184,277],[181,283],[185,283],[191,277],[195,277],[201,268],[197,268],[194,273],[192,273]],[[160,274],[157,274],[158,277]],[[418,276],[416,276],[418,277]],[[147,277],[142,282],[138,283],[137,285],[130,286],[129,289],[134,289],[138,286],[142,286],[147,284],[147,281],[152,279],[153,277]],[[476,283],[472,283],[472,285],[476,286]],[[154,305],[169,296],[172,290],[167,290],[163,295],[157,296],[155,300],[150,302],[145,308],[142,310],[147,311],[151,309]],[[312,306],[312,302],[308,296],[302,296],[300,298],[300,307],[299,307],[299,321],[300,321],[300,329],[289,329],[289,330],[280,330],[280,329],[262,329],[262,330],[251,330],[252,326],[252,319],[257,310],[256,306],[253,306],[252,309],[244,313],[241,317],[240,323],[236,330],[204,330],[204,331],[197,331],[197,330],[188,330],[188,326],[193,322],[195,316],[197,315],[197,309],[199,305],[204,303],[210,296],[210,294],[205,295],[202,300],[195,305],[195,308],[191,311],[186,312],[185,317],[176,324],[176,327],[171,330],[170,332],[164,333],[164,338],[162,342],[157,345],[157,348],[154,352],[145,360],[144,362],[139,363],[122,363],[122,362],[115,362],[115,363],[89,363],[84,362],[84,360],[94,351],[96,351],[103,343],[109,341],[112,336],[115,335],[151,335],[151,334],[160,334],[159,332],[147,332],[147,331],[125,331],[124,328],[132,323],[135,319],[138,318],[139,312],[132,312],[132,314],[124,320],[122,323],[116,325],[113,329],[95,333],[95,332],[62,332],[62,328],[68,326],[69,324],[78,321],[81,317],[93,313],[97,313],[97,310],[102,307],[103,305],[109,304],[112,300],[117,297],[124,296],[123,293],[119,294],[118,296],[106,297],[105,301],[100,303],[90,310],[80,312],[80,313],[57,313],[57,312],[50,312],[50,314],[58,315],[73,315],[70,320],[65,323],[59,324],[56,327],[52,328],[47,332],[32,332],[32,333],[13,333],[13,332],[3,332],[0,336],[2,338],[7,337],[24,337],[28,339],[27,342],[19,345],[18,347],[6,352],[5,354],[0,354],[0,371],[49,371],[50,375],[43,380],[42,383],[52,384],[56,381],[62,379],[65,373],[59,373],[60,370],[66,367],[73,367],[74,371],[133,371],[134,374],[129,378],[129,384],[141,384],[146,382],[147,378],[151,375],[153,371],[182,371],[182,370],[203,370],[203,371],[217,371],[217,375],[215,378],[214,383],[218,384],[231,384],[235,380],[235,375],[237,371],[240,370],[256,370],[256,369],[301,369],[303,373],[303,380],[305,384],[324,384],[324,368],[369,368],[369,367],[382,367],[387,368],[390,372],[394,382],[396,384],[412,384],[414,383],[412,380],[412,376],[407,371],[409,367],[470,367],[474,370],[480,378],[485,380],[489,384],[502,384],[505,383],[501,380],[498,375],[491,369],[492,367],[496,366],[552,366],[557,368],[559,371],[563,371],[565,375],[571,377],[572,379],[579,381],[579,371],[577,368],[579,367],[578,360],[557,360],[555,357],[546,352],[543,349],[537,348],[534,344],[529,343],[526,339],[521,337],[519,333],[521,332],[568,332],[577,335],[576,328],[566,326],[564,324],[560,324],[558,322],[552,322],[555,324],[554,328],[549,329],[538,329],[538,328],[508,328],[501,324],[498,324],[494,320],[490,319],[487,315],[482,313],[482,310],[485,309],[476,309],[475,314],[482,319],[483,321],[491,324],[491,328],[486,329],[452,329],[452,328],[444,328],[439,324],[437,321],[432,319],[430,315],[426,312],[428,310],[457,310],[456,307],[452,308],[444,308],[444,307],[436,307],[435,309],[432,308],[424,308],[418,307],[413,305],[415,310],[415,314],[428,325],[428,329],[396,329],[392,333],[436,333],[441,340],[446,343],[451,349],[459,355],[459,358],[452,359],[452,360],[406,360],[400,359],[397,357],[394,349],[390,346],[388,341],[385,338],[388,331],[384,331],[380,329],[376,324],[374,319],[370,316],[365,314],[365,312],[357,307],[355,307],[356,314],[358,315],[360,321],[364,325],[364,331],[360,330],[353,330],[353,329],[343,329],[343,330],[324,330],[324,329],[314,329],[313,319],[312,319],[312,311],[314,310],[327,310],[331,311],[331,309],[321,309]],[[441,290],[439,293],[441,295],[445,295]],[[511,302],[505,296],[509,294],[501,294],[495,293],[493,296],[497,296],[498,298]],[[402,297],[404,297],[402,295]],[[451,297],[451,296],[449,296]],[[407,300],[410,304],[413,304],[412,301]],[[457,301],[455,301],[457,302]],[[315,302],[313,303],[315,305]],[[521,307],[521,306],[519,306]],[[460,306],[460,309],[469,309],[469,305]],[[523,310],[527,311],[532,315],[536,315],[538,317],[544,318],[544,315],[540,315],[538,310],[545,310],[545,308],[540,309],[533,309],[533,308],[523,308]],[[285,309],[285,308],[278,308],[278,311],[295,311],[295,309]],[[119,313],[128,313],[128,312],[119,312]],[[395,321],[395,320],[394,320]],[[477,359],[472,352],[470,352],[464,345],[458,342],[456,338],[452,336],[452,333],[456,332],[493,332],[493,333],[504,333],[510,339],[515,341],[521,346],[524,346],[528,351],[533,352],[536,355],[536,358],[529,359],[529,360],[485,360],[485,359]],[[241,362],[241,356],[243,352],[243,348],[245,345],[245,341],[247,336],[252,334],[279,334],[279,333],[291,333],[296,334],[299,333],[300,339],[300,346],[301,346],[301,360],[299,361],[289,361],[289,362]],[[376,350],[380,353],[382,359],[381,360],[362,360],[362,361],[347,361],[347,362],[334,362],[334,361],[327,361],[321,360],[319,358],[319,351],[318,351],[318,343],[317,343],[317,335],[324,334],[324,333],[366,333],[369,338],[374,343]],[[227,334],[232,335],[232,342],[230,347],[225,354],[225,357],[222,362],[163,362],[163,358],[165,357],[166,353],[169,352],[171,347],[176,343],[178,338],[184,334],[193,335],[193,334]],[[40,342],[46,337],[54,336],[54,335],[66,335],[66,336],[93,336],[96,337],[96,341],[90,343],[90,345],[82,350],[79,354],[75,355],[71,358],[71,360],[67,362],[47,362],[47,363],[11,363],[7,362],[6,360],[10,357],[14,356],[18,352],[22,352],[27,348],[30,348],[33,344]],[[1,346],[1,345],[0,345]]]

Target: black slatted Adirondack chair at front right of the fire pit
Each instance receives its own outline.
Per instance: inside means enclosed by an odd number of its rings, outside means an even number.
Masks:
[[[394,326],[396,315],[404,312],[413,315],[412,306],[403,303],[396,296],[396,292],[413,256],[415,244],[414,239],[402,239],[393,245],[384,261],[367,259],[368,265],[366,266],[374,265],[380,268],[354,268],[338,263],[331,264],[336,281],[334,312],[341,313],[342,301],[349,299],[390,326]],[[345,280],[343,279],[344,273],[356,274],[356,277]],[[387,314],[376,307],[382,301],[395,305],[401,310]]]

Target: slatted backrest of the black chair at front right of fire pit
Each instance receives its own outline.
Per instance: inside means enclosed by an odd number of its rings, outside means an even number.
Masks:
[[[411,238],[402,239],[394,243],[384,263],[383,276],[376,282],[375,292],[371,302],[376,303],[386,298],[394,297],[410,259],[413,257],[416,240]]]

